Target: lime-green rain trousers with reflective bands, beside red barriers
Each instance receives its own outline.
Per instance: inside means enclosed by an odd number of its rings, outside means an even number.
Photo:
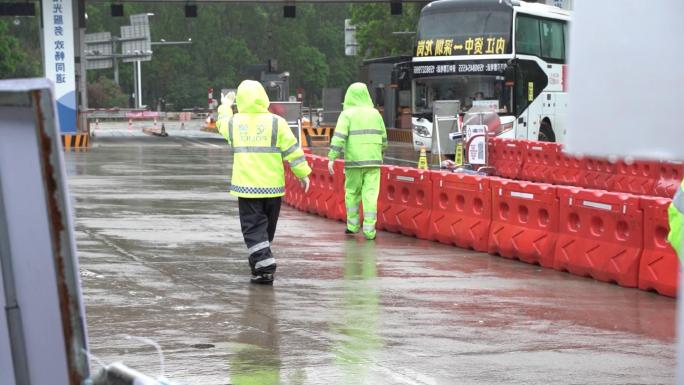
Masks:
[[[380,167],[347,168],[344,170],[344,203],[347,207],[347,229],[357,233],[359,203],[363,201],[363,235],[375,239],[380,194]]]

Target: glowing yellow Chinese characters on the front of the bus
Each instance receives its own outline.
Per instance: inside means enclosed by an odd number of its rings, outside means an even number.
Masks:
[[[503,37],[469,37],[462,43],[454,39],[418,40],[416,56],[495,55],[506,53]]]

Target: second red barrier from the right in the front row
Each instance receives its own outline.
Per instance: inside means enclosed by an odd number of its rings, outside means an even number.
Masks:
[[[571,187],[557,189],[560,225],[554,268],[636,287],[644,243],[639,198]]]

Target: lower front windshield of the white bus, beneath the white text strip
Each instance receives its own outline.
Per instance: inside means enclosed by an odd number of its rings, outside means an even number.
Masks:
[[[413,89],[414,113],[430,119],[435,100],[458,100],[461,112],[466,112],[473,106],[499,113],[511,111],[510,87],[504,86],[503,76],[469,75],[416,79]]]

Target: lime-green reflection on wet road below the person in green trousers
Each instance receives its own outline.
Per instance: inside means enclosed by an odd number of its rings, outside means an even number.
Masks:
[[[375,282],[375,243],[347,239],[344,246],[344,314],[335,330],[340,334],[335,362],[345,384],[368,384],[372,383],[368,371],[375,361],[372,354],[382,347],[377,334],[380,295]]]

